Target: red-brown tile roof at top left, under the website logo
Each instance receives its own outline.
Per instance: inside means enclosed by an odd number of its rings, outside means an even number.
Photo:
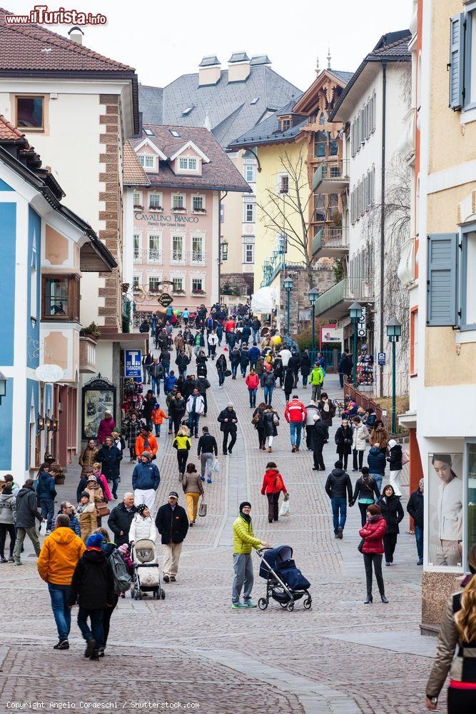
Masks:
[[[134,71],[40,25],[7,25],[0,8],[0,70]],[[17,13],[19,14],[19,13]]]

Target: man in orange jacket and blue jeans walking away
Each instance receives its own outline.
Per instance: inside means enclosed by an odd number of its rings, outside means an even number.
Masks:
[[[69,527],[69,516],[56,516],[54,531],[45,538],[39,554],[37,568],[40,577],[48,583],[59,641],[55,650],[69,650],[71,608],[68,606],[69,588],[74,568],[86,546]]]

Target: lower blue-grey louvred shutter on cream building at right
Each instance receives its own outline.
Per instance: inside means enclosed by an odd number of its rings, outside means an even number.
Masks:
[[[432,233],[427,252],[427,325],[456,325],[457,233]]]

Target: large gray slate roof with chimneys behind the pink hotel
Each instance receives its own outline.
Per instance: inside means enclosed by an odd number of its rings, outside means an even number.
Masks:
[[[139,108],[144,124],[204,126],[206,114],[211,131],[221,146],[249,131],[267,110],[276,111],[300,90],[267,64],[250,66],[244,82],[228,84],[228,70],[221,71],[217,84],[198,86],[198,74],[183,74],[163,89],[139,86]],[[250,104],[258,97],[256,104]],[[182,112],[188,106],[187,116]]]

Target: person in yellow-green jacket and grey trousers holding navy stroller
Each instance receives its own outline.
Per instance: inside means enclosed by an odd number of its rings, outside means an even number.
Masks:
[[[256,607],[253,600],[251,600],[254,581],[251,548],[270,548],[269,543],[255,538],[250,511],[251,504],[248,501],[240,503],[240,515],[233,523],[233,570],[235,571],[231,588],[231,607],[233,610]],[[243,585],[243,603],[240,603]]]

